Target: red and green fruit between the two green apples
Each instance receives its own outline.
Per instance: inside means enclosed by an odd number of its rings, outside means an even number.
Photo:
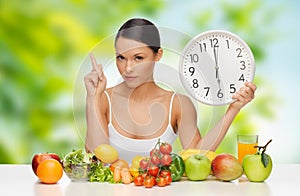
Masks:
[[[219,154],[211,163],[213,175],[219,180],[231,181],[243,174],[240,162],[231,154]]]

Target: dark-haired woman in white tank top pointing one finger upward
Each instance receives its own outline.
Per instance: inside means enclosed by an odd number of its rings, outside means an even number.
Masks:
[[[93,69],[85,77],[87,151],[107,143],[130,161],[136,155],[148,156],[158,138],[172,144],[177,136],[183,148],[214,151],[240,109],[254,98],[256,86],[246,83],[233,95],[236,101],[220,122],[201,137],[191,100],[153,80],[155,62],[163,55],[155,25],[145,19],[128,20],[116,35],[115,51],[124,81],[109,89],[101,64],[90,55]]]

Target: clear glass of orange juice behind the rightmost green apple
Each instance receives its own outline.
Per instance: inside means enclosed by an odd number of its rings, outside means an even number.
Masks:
[[[238,135],[238,159],[242,164],[243,158],[246,154],[257,153],[257,148],[254,146],[258,145],[258,135]]]

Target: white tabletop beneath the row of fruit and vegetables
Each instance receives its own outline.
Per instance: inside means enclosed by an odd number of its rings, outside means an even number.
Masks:
[[[170,186],[146,189],[133,183],[109,184],[71,182],[64,174],[54,185],[39,182],[31,165],[0,164],[0,195],[36,196],[94,196],[94,195],[299,195],[300,164],[274,165],[271,176],[264,183],[249,182],[244,176],[233,182],[221,182],[213,177],[205,181],[181,180]]]

